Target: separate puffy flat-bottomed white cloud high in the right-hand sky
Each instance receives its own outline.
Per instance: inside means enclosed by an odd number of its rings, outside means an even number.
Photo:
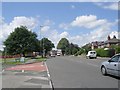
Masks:
[[[107,23],[106,19],[97,19],[95,15],[83,15],[78,16],[72,21],[71,26],[73,27],[85,27],[85,28],[96,28]]]

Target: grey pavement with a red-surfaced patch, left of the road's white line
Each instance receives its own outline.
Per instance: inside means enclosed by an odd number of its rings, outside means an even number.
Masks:
[[[52,83],[46,62],[27,62],[5,68],[2,72],[2,88],[48,88]]]

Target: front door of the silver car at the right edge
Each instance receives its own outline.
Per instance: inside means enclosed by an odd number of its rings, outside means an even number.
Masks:
[[[118,76],[118,61],[119,61],[120,56],[116,55],[114,57],[111,58],[111,60],[109,61],[109,64],[107,66],[107,69],[109,71],[110,74]]]

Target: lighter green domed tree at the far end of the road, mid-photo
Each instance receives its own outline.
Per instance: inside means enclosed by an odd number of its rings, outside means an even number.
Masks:
[[[69,48],[69,41],[66,38],[62,38],[58,45],[57,45],[57,49],[61,49],[62,50],[62,54],[66,54],[66,51]]]

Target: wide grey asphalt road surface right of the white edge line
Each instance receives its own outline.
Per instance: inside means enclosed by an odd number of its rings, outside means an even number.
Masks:
[[[118,88],[118,79],[103,76],[100,63],[107,59],[57,56],[47,60],[54,88]]]

